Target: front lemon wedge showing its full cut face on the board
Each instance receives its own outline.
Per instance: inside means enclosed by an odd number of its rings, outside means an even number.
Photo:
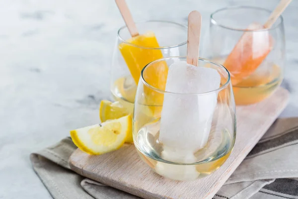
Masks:
[[[91,155],[119,149],[132,133],[131,115],[71,131],[74,144]]]

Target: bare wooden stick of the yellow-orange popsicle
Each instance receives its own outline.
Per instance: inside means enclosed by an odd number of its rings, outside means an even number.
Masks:
[[[134,19],[132,17],[132,14],[129,11],[129,8],[125,2],[125,0],[115,0],[120,13],[125,21],[125,24],[128,28],[128,31],[130,32],[132,37],[138,36],[139,32],[136,26],[136,23],[134,22]]]

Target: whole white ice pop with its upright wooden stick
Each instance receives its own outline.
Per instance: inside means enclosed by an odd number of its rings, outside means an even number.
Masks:
[[[208,141],[217,93],[201,94],[220,87],[217,70],[197,67],[201,30],[201,14],[192,11],[188,18],[187,62],[170,65],[160,118],[159,141],[164,160],[190,164],[194,153]],[[174,165],[158,162],[155,171],[174,180],[194,180],[200,173],[195,165]]]

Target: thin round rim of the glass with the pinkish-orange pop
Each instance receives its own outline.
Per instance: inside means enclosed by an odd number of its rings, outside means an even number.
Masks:
[[[211,23],[213,23],[214,25],[218,25],[222,28],[225,29],[229,29],[229,30],[235,30],[235,31],[241,31],[241,32],[257,32],[257,31],[269,31],[269,30],[273,30],[275,28],[278,28],[279,26],[281,26],[284,22],[284,18],[282,15],[280,15],[278,18],[280,19],[280,22],[274,26],[274,27],[270,27],[270,28],[263,28],[263,29],[256,29],[256,30],[250,30],[250,29],[243,29],[243,28],[232,28],[229,26],[226,26],[222,23],[219,23],[215,18],[214,15],[224,11],[224,10],[228,10],[228,9],[236,9],[236,8],[246,8],[246,9],[258,9],[258,10],[262,10],[262,11],[266,11],[268,13],[271,13],[272,11],[263,7],[256,7],[256,6],[248,6],[248,5],[232,5],[232,6],[227,6],[221,9],[218,9],[216,11],[214,11],[211,15],[210,15],[210,19],[211,19]]]

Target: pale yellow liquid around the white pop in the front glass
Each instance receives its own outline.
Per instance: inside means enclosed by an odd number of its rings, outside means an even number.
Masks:
[[[167,164],[169,165],[168,168],[171,168],[170,165],[174,163],[164,160],[161,155],[163,144],[158,141],[158,122],[145,125],[134,136],[137,152],[152,170],[155,171],[157,164]],[[222,131],[211,130],[207,144],[194,153],[198,162],[176,165],[174,168],[179,169],[178,167],[180,167],[183,170],[192,170],[192,167],[195,167],[196,173],[199,174],[198,178],[208,176],[224,164],[231,153],[233,143],[234,140],[231,138],[229,131],[225,129],[222,129]],[[159,174],[162,175],[162,173]]]

